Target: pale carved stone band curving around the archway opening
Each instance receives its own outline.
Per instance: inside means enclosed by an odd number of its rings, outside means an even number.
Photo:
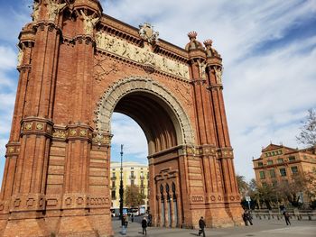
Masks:
[[[98,134],[111,132],[111,114],[113,114],[118,101],[132,92],[146,92],[153,94],[163,100],[166,109],[175,126],[177,133],[177,142],[180,144],[194,144],[194,132],[189,120],[180,102],[166,88],[150,77],[125,77],[118,80],[115,84],[107,88],[107,91],[100,97],[96,109],[96,129]]]

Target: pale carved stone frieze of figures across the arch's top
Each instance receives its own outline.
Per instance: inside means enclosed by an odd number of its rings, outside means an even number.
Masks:
[[[189,79],[189,67],[172,59],[164,58],[152,52],[150,46],[137,47],[126,41],[119,40],[106,32],[96,33],[97,47],[135,62],[151,65],[156,70],[172,74],[176,77]]]

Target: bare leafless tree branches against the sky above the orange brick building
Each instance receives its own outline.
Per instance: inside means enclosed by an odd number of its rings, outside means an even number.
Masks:
[[[316,110],[309,109],[305,121],[302,121],[301,132],[296,140],[307,146],[316,145]]]

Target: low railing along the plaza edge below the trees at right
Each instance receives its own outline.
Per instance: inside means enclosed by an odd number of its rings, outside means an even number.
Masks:
[[[298,221],[302,221],[303,219],[305,220],[316,220],[316,213],[289,213],[290,219],[296,219]],[[256,218],[262,220],[262,219],[277,219],[277,220],[282,220],[284,218],[284,215],[282,213],[252,213],[252,216],[255,216]]]

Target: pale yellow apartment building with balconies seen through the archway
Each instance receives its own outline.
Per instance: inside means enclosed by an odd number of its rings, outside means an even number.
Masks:
[[[119,208],[119,185],[121,177],[121,163],[111,162],[110,165],[110,188],[112,197],[112,208]],[[140,193],[146,197],[144,205],[149,205],[149,170],[148,165],[136,162],[123,162],[123,188],[135,185],[139,187]]]

